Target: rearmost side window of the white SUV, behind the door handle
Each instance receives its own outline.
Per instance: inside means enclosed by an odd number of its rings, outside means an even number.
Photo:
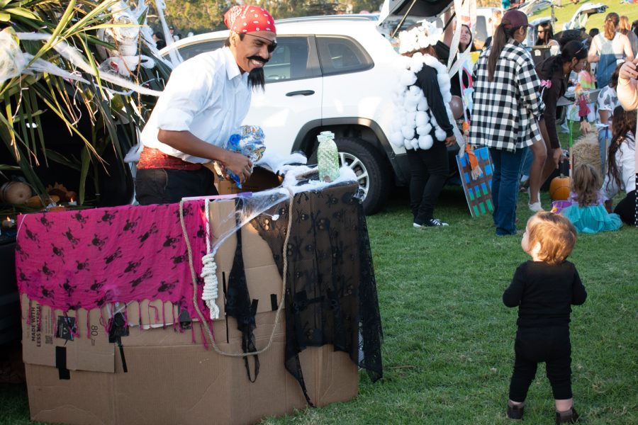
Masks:
[[[360,72],[374,66],[370,55],[350,38],[317,36],[317,45],[323,75]]]

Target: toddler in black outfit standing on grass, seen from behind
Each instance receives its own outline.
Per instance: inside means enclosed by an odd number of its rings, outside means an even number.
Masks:
[[[578,420],[571,394],[569,314],[587,293],[576,266],[565,260],[575,243],[576,229],[562,215],[542,211],[527,221],[520,244],[532,261],[518,266],[503,293],[505,305],[518,307],[510,419],[522,419],[527,390],[538,363],[544,362],[556,401],[556,424]]]

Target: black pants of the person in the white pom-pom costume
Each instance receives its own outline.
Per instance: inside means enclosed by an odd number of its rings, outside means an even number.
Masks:
[[[410,163],[410,208],[414,222],[422,225],[433,218],[434,207],[449,174],[447,147],[435,140],[430,149],[408,149]]]

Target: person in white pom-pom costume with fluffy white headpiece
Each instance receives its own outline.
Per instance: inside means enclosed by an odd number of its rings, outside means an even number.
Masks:
[[[449,75],[434,49],[441,32],[424,21],[399,33],[403,68],[390,139],[408,156],[410,207],[418,228],[447,226],[434,217],[434,208],[449,174],[447,147],[457,142],[448,105]]]

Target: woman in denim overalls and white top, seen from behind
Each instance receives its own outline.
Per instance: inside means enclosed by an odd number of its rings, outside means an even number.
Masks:
[[[608,13],[605,16],[605,31],[596,35],[591,40],[589,47],[589,62],[598,62],[596,66],[596,82],[598,89],[609,84],[611,74],[616,67],[616,62],[623,59],[634,60],[634,52],[632,52],[632,43],[629,42],[627,35],[617,33],[620,16],[618,13]]]

